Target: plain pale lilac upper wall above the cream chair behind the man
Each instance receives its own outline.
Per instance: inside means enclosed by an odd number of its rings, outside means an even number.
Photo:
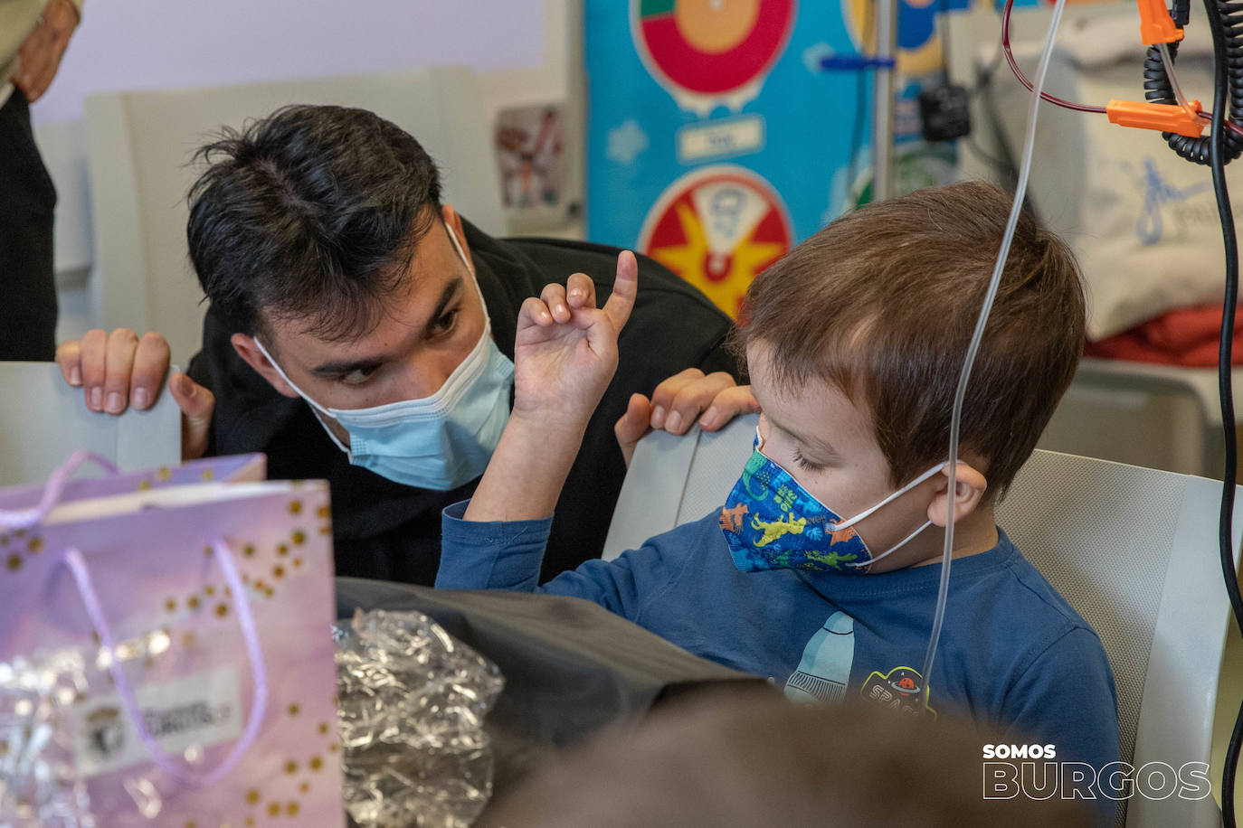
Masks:
[[[544,62],[544,0],[86,0],[42,123],[104,89],[220,86],[465,63]]]

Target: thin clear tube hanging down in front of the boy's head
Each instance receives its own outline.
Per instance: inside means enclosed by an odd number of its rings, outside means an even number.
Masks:
[[[1011,0],[1013,1],[1013,0]],[[1006,233],[1002,237],[1001,251],[997,253],[997,264],[993,267],[993,276],[988,283],[983,307],[976,322],[976,330],[967,345],[967,355],[963,359],[962,374],[958,376],[958,387],[953,397],[953,410],[950,416],[950,480],[946,489],[946,524],[945,547],[941,559],[941,583],[937,588],[936,612],[932,616],[932,632],[929,636],[929,648],[924,657],[924,670],[920,675],[924,679],[924,699],[929,699],[929,685],[932,678],[932,663],[936,659],[937,642],[941,638],[941,626],[945,623],[945,605],[950,595],[950,566],[953,552],[953,503],[957,487],[958,466],[958,432],[962,425],[962,407],[967,396],[967,382],[971,380],[971,369],[979,351],[979,343],[984,336],[984,326],[988,324],[988,315],[993,309],[993,300],[997,298],[997,289],[1001,286],[1002,271],[1009,256],[1011,242],[1014,238],[1014,228],[1018,225],[1019,214],[1023,211],[1023,199],[1027,194],[1027,181],[1032,173],[1032,154],[1035,149],[1035,115],[1040,106],[1044,77],[1049,68],[1049,58],[1053,56],[1053,42],[1058,34],[1058,24],[1062,22],[1062,12],[1066,7],[1066,0],[1057,0],[1053,7],[1053,19],[1049,21],[1049,32],[1045,35],[1044,50],[1040,52],[1040,62],[1035,71],[1035,88],[1032,89],[1032,99],[1027,110],[1027,133],[1023,135],[1023,154],[1019,164],[1018,185],[1014,189],[1014,205],[1011,207],[1009,221],[1006,225]]]

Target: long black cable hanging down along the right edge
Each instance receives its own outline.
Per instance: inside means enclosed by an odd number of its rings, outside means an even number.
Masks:
[[[1229,42],[1226,35],[1229,6],[1218,0],[1204,0],[1208,14],[1208,27],[1213,34],[1213,118],[1208,133],[1209,166],[1213,171],[1213,194],[1217,196],[1217,211],[1222,221],[1222,242],[1226,248],[1226,295],[1222,304],[1222,330],[1217,354],[1217,382],[1222,402],[1222,432],[1226,439],[1226,469],[1222,479],[1222,508],[1218,520],[1218,551],[1221,552],[1222,576],[1226,592],[1234,611],[1234,621],[1243,632],[1243,596],[1239,595],[1238,574],[1234,569],[1234,487],[1238,475],[1238,446],[1234,434],[1234,396],[1231,377],[1232,351],[1234,345],[1234,310],[1238,302],[1239,257],[1238,237],[1234,232],[1234,216],[1231,209],[1229,189],[1226,182],[1226,143],[1228,135],[1223,127],[1226,122],[1226,94],[1234,92],[1231,83],[1236,73],[1233,62],[1227,66],[1229,52],[1237,55],[1237,42]],[[1228,17],[1227,17],[1228,19]],[[1234,101],[1232,104],[1232,114]],[[1181,154],[1181,153],[1180,153]],[[1222,762],[1222,823],[1234,828],[1234,777],[1238,766],[1239,744],[1243,737],[1243,703],[1234,718],[1234,729],[1226,747]]]

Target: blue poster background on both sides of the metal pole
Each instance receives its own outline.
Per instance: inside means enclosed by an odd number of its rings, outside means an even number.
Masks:
[[[748,5],[748,0],[732,2]],[[896,88],[907,99],[906,112],[921,78],[935,77],[941,65],[935,15],[966,7],[968,0],[919,2],[902,0],[899,10],[904,79]],[[676,97],[667,79],[661,84],[636,45],[640,21],[651,20],[653,9],[672,15],[679,4],[684,9],[696,5],[690,0],[585,0],[588,238],[638,245],[654,205],[663,195],[666,201],[672,195],[666,194],[671,184],[689,173],[726,164],[757,174],[776,191],[788,215],[792,242],[802,241],[840,215],[869,174],[871,74],[825,72],[819,61],[829,55],[858,55],[853,32],[871,25],[874,5],[868,0],[797,0],[788,41],[753,97],[700,96],[687,102]],[[763,0],[750,5],[763,9]],[[901,102],[897,122],[901,132]],[[731,124],[741,124],[737,134],[747,139],[741,144],[725,140],[717,151],[713,138],[720,135],[699,135],[699,154],[686,156],[687,132],[725,125],[728,133]],[[952,164],[952,150],[946,151]],[[851,154],[856,154],[853,166]],[[848,181],[848,173],[856,173],[855,180]]]

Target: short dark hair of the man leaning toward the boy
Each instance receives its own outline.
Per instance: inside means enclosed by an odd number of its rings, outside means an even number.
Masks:
[[[194,160],[208,169],[189,194],[190,259],[247,334],[272,319],[329,340],[370,330],[440,216],[435,163],[365,109],[285,107],[225,128]]]

